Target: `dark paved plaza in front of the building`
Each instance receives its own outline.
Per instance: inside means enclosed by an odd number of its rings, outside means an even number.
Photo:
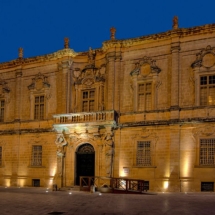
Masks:
[[[110,194],[0,187],[1,215],[215,214],[215,193]]]

